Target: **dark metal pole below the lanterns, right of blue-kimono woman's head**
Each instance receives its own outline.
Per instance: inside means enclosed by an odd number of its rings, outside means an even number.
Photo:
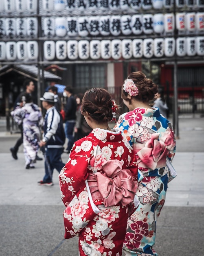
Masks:
[[[175,137],[179,139],[179,128],[178,128],[178,86],[177,86],[177,61],[174,61],[173,70],[173,81],[174,81],[174,129]]]

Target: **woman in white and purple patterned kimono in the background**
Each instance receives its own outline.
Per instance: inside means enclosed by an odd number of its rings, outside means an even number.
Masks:
[[[23,152],[25,156],[25,168],[34,168],[36,154],[39,149],[40,128],[43,117],[40,108],[33,103],[29,93],[22,95],[20,106],[11,112],[17,124],[23,124]]]

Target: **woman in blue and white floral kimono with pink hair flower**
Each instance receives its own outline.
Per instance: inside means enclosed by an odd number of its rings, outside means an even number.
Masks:
[[[171,166],[175,137],[170,122],[150,102],[157,85],[142,72],[133,72],[125,80],[121,96],[129,112],[118,119],[119,128],[133,147],[138,171],[143,174],[136,195],[139,207],[129,217],[123,250],[127,256],[157,255],[156,220],[165,203],[167,183],[176,176]],[[168,167],[167,167],[168,165]]]

